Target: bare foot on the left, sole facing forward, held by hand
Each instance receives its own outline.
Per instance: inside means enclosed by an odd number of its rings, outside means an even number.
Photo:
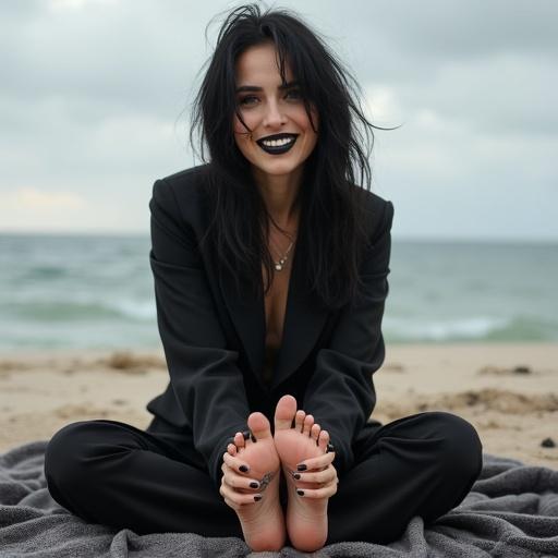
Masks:
[[[254,551],[280,550],[284,545],[286,531],[279,501],[279,456],[266,416],[252,413],[247,424],[256,441],[250,438],[245,440],[241,433],[234,436],[236,450],[232,450],[232,453],[238,458],[234,469],[243,465],[244,470],[247,465],[248,471],[238,470],[238,481],[233,482],[240,485],[235,488],[238,493],[252,494],[255,498],[250,504],[236,507],[235,512],[241,522],[244,541]],[[242,487],[254,481],[259,485],[257,488]]]

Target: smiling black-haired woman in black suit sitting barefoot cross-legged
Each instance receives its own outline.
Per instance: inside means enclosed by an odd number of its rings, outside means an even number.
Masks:
[[[368,191],[357,124],[373,126],[347,75],[289,12],[226,20],[193,112],[209,162],[150,201],[170,381],[145,432],[98,420],[53,436],[46,477],[69,510],[312,551],[393,541],[470,490],[482,446],[463,418],[368,421],[393,207]]]

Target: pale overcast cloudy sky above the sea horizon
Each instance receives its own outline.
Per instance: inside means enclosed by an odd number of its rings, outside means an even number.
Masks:
[[[0,231],[148,233],[239,2],[0,1]],[[266,2],[265,5],[271,5]],[[558,2],[284,0],[365,94],[400,239],[558,241]]]

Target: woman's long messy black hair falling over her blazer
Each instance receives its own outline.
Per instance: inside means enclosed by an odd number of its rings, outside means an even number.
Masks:
[[[256,295],[268,292],[275,272],[267,247],[270,216],[233,132],[235,114],[244,123],[235,95],[236,59],[246,49],[267,43],[277,49],[283,84],[288,61],[311,122],[311,106],[317,109],[317,144],[304,162],[294,203],[301,209],[298,239],[300,242],[304,235],[308,245],[304,262],[308,286],[323,304],[337,310],[361,287],[357,270],[371,227],[362,195],[363,190],[371,190],[372,129],[379,126],[363,114],[356,81],[318,33],[289,10],[267,9],[262,13],[255,3],[233,9],[208,60],[192,106],[190,132],[194,154],[208,163],[206,183],[214,218],[202,245],[209,243],[206,247],[217,252],[220,265],[232,271],[236,284],[245,280]],[[199,151],[193,140],[196,130]],[[264,290],[262,264],[267,270]]]

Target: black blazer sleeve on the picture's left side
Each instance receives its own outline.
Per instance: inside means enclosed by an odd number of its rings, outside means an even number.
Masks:
[[[250,414],[238,351],[227,349],[194,231],[180,217],[170,183],[155,181],[149,202],[157,324],[170,383],[216,485],[229,438]]]

